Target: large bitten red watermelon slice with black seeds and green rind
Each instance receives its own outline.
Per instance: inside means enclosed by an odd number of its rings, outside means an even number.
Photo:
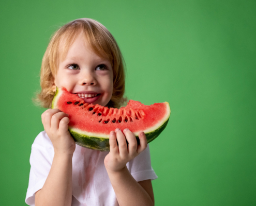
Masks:
[[[109,133],[116,128],[128,128],[138,143],[140,131],[145,132],[147,143],[153,141],[167,126],[171,114],[168,102],[146,106],[130,100],[126,107],[108,108],[85,103],[65,88],[57,88],[52,108],[69,115],[68,128],[78,145],[101,151],[109,151]]]

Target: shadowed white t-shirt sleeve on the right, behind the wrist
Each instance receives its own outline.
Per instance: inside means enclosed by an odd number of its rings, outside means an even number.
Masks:
[[[130,171],[132,177],[137,181],[143,180],[155,180],[157,175],[151,166],[149,145],[140,153],[137,157],[127,163],[127,168]]]

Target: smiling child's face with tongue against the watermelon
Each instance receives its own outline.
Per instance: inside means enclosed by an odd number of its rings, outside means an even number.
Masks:
[[[113,70],[108,59],[96,55],[84,41],[82,33],[70,46],[67,56],[59,62],[54,80],[89,104],[106,106],[113,92]]]

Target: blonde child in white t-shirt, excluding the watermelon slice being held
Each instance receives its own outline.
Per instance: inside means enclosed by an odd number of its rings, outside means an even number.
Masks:
[[[56,31],[42,60],[42,106],[50,108],[56,87],[90,104],[117,108],[124,102],[122,54],[106,27],[78,19]],[[144,132],[137,146],[131,131],[117,128],[110,132],[110,152],[100,152],[76,145],[68,123],[58,109],[43,112],[44,131],[32,145],[27,204],[154,205],[151,180],[157,176]]]

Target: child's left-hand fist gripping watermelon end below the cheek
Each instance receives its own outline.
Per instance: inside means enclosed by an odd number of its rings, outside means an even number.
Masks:
[[[68,131],[68,114],[59,109],[48,109],[42,113],[43,128],[54,147],[54,153],[71,155],[76,149],[76,143]]]

